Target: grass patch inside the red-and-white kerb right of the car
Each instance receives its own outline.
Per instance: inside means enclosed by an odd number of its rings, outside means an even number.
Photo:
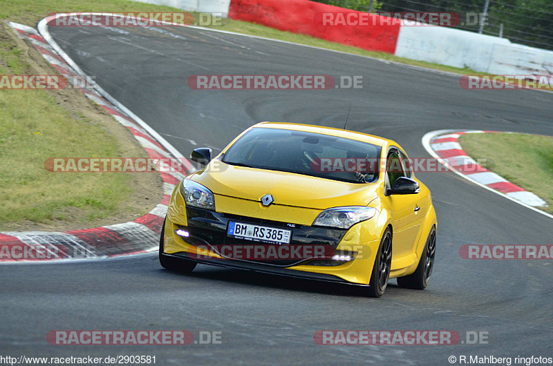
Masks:
[[[460,144],[469,156],[509,182],[536,193],[553,212],[553,137],[524,133],[467,133]],[[493,162],[493,163],[492,163]]]

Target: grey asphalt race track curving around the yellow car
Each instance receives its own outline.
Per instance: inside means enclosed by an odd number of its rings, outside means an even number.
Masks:
[[[553,95],[463,90],[456,76],[274,41],[191,28],[54,28],[88,75],[188,156],[220,151],[261,121],[343,127],[429,156],[424,133],[485,129],[553,135]],[[362,89],[192,90],[191,75],[362,75]],[[516,151],[513,151],[516,153]],[[464,244],[553,244],[550,218],[462,180],[419,173],[438,214],[429,287],[383,298],[323,282],[198,265],[165,271],[157,253],[0,267],[0,344],[34,356],[156,356],[160,365],[290,363],[449,365],[450,355],[553,356],[553,263],[465,260]],[[56,329],[222,331],[221,345],[54,346]],[[326,329],[487,331],[489,344],[323,346]]]

